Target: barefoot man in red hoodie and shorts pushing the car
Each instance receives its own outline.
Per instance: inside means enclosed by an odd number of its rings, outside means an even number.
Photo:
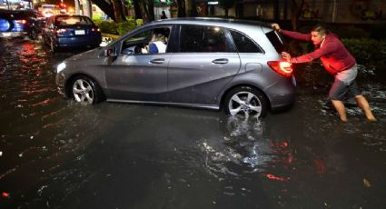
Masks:
[[[369,121],[377,121],[371,112],[370,104],[361,95],[361,91],[355,82],[358,74],[355,58],[344,47],[337,35],[327,32],[322,25],[312,27],[310,34],[283,30],[278,24],[272,24],[272,29],[297,40],[312,41],[316,48],[313,52],[297,57],[282,52],[282,57],[291,63],[307,63],[317,58],[322,60],[324,68],[335,77],[328,98],[332,101],[341,121],[347,122],[346,108],[342,102],[346,96],[355,98]]]

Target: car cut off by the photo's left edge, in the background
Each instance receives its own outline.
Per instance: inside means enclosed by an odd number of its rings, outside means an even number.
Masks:
[[[45,16],[33,9],[0,9],[0,37],[25,37],[36,39],[45,25]]]

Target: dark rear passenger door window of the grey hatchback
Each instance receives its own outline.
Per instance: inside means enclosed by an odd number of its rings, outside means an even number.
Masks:
[[[222,27],[182,25],[180,52],[183,53],[229,53],[233,47]]]

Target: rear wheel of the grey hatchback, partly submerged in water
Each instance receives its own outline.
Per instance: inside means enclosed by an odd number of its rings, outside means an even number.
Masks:
[[[226,95],[223,105],[227,114],[243,114],[245,117],[264,117],[268,109],[265,95],[250,86],[233,88]]]

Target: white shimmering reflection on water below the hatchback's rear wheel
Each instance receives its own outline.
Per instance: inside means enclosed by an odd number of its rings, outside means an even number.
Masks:
[[[263,171],[272,161],[270,140],[263,138],[262,121],[231,116],[217,139],[204,139],[199,146],[205,154],[204,166],[210,174],[242,176]]]

